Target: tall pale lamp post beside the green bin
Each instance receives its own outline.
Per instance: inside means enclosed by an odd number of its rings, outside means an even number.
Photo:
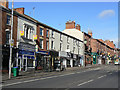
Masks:
[[[13,33],[13,0],[12,0],[12,18],[11,18],[11,37],[10,37],[10,58],[9,58],[9,79],[11,78],[11,62],[12,62],[12,33]]]

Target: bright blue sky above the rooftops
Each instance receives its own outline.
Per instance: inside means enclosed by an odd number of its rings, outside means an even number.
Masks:
[[[80,24],[81,31],[91,30],[93,38],[113,40],[117,44],[118,2],[15,2],[14,8],[19,7],[25,8],[25,14],[59,31],[65,29],[68,20],[74,20]]]

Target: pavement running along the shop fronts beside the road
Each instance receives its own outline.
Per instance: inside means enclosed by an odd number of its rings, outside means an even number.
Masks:
[[[65,71],[62,72],[71,72],[71,71],[76,71],[76,70],[80,70],[80,69],[87,69],[87,68],[92,68],[92,67],[98,67],[99,65],[87,65],[86,67],[69,67],[66,68]],[[4,81],[8,81],[8,80],[15,80],[15,79],[22,79],[22,78],[30,78],[30,77],[37,77],[37,76],[49,76],[49,75],[54,75],[54,74],[59,74],[61,72],[45,72],[45,71],[41,71],[41,70],[36,70],[35,72],[20,72],[19,76],[14,77],[13,74],[11,75],[11,79],[9,79],[8,77],[8,73],[6,74],[2,74],[2,82]]]

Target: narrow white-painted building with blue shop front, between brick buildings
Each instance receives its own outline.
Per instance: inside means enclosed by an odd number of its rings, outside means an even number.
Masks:
[[[17,65],[19,70],[28,71],[35,69],[35,46],[33,35],[36,35],[36,23],[26,18],[27,16],[18,16],[18,30],[17,30]],[[24,35],[21,36],[20,32]]]

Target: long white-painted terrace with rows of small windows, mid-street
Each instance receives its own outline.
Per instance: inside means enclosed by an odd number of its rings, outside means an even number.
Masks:
[[[55,50],[59,53],[65,67],[78,66],[78,57],[81,57],[84,52],[83,41],[58,30],[51,29],[49,34],[49,50]]]

